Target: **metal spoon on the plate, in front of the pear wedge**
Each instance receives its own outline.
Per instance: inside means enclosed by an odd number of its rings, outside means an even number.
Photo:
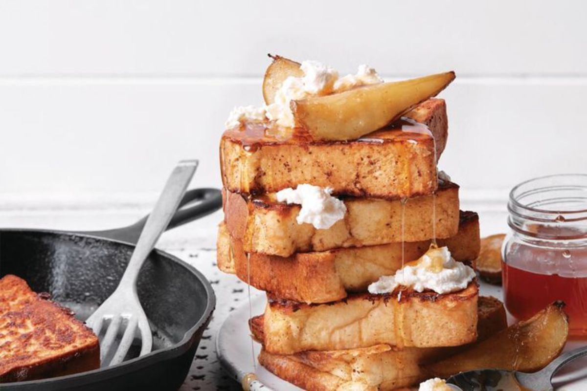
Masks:
[[[458,373],[448,378],[447,383],[460,387],[463,391],[475,390],[552,390],[551,379],[565,364],[587,355],[587,346],[563,353],[545,368],[534,373],[518,372],[517,370],[480,369]],[[521,387],[520,387],[521,386]],[[523,387],[523,388],[522,388]]]

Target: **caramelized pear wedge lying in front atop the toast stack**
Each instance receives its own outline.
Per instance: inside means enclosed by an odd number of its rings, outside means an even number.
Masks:
[[[355,140],[436,96],[454,77],[454,72],[446,72],[372,84],[338,94],[295,100],[291,109],[296,123],[315,140]]]

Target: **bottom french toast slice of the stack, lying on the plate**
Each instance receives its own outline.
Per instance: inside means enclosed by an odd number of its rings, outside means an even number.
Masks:
[[[477,314],[477,341],[507,328],[504,306],[495,298],[479,297]],[[263,318],[251,319],[250,325],[254,338],[263,341]],[[467,346],[399,349],[380,344],[369,348],[308,351],[294,355],[277,355],[263,349],[259,362],[279,378],[309,391],[393,390],[414,386],[429,378],[423,365],[463,351]]]

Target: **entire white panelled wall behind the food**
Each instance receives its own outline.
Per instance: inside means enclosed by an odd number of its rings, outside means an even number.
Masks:
[[[587,167],[587,3],[0,1],[0,209],[149,205],[178,159],[220,186],[233,106],[266,53],[387,79],[454,69],[440,168],[503,208]]]

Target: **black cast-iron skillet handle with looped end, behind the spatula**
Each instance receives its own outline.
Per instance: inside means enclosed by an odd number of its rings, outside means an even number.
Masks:
[[[194,203],[195,205],[192,205]],[[188,190],[185,192],[183,199],[181,199],[176,213],[171,217],[171,221],[166,230],[200,219],[200,217],[210,215],[210,213],[213,213],[220,208],[222,208],[222,194],[220,190],[210,188]],[[147,222],[147,217],[149,216],[147,215],[133,225],[123,228],[79,233],[136,244],[143,231],[143,227]]]

